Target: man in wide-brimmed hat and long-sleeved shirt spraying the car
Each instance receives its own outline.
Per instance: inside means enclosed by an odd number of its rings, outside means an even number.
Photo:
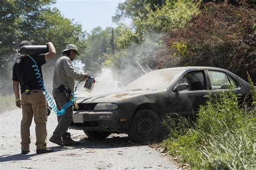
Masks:
[[[80,55],[76,45],[68,44],[66,45],[66,49],[62,52],[63,56],[57,60],[53,72],[52,94],[58,110],[69,101],[69,98],[66,97],[64,91],[73,94],[75,80],[86,80],[89,76],[88,73],[78,72],[73,67],[72,60],[76,55]],[[79,145],[78,141],[73,141],[71,139],[70,133],[68,132],[68,127],[71,124],[72,118],[73,108],[70,106],[65,111],[64,115],[58,116],[58,125],[50,138],[51,142],[60,146]]]

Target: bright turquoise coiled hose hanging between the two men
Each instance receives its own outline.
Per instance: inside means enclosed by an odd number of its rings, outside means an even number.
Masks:
[[[29,55],[25,55],[25,56],[30,57]],[[30,58],[31,58],[31,59],[33,60],[33,62],[35,63],[34,65],[32,65],[32,67],[35,68],[34,71],[36,72],[36,73],[35,73],[36,76],[37,76],[36,78],[39,79],[39,80],[38,80],[39,86],[41,87],[41,90],[43,90],[44,96],[45,96],[46,100],[48,101],[49,105],[52,107],[53,112],[55,112],[57,115],[63,115],[63,114],[65,114],[65,111],[67,110],[67,108],[68,108],[69,106],[72,106],[72,105],[75,103],[75,101],[76,101],[76,97],[75,97],[75,95],[76,95],[75,92],[76,92],[76,91],[73,92],[73,94],[71,95],[71,99],[70,99],[70,100],[62,107],[62,109],[59,111],[58,108],[56,107],[56,105],[53,103],[53,101],[52,101],[52,99],[51,99],[51,97],[50,97],[48,91],[46,91],[46,89],[45,89],[45,87],[44,87],[43,78],[41,77],[41,74],[39,73],[39,70],[38,70],[38,66],[37,66],[37,64],[36,64],[36,61],[35,61],[32,57],[30,57]],[[80,81],[80,82],[81,82],[81,81]],[[79,83],[80,83],[80,82],[79,82]],[[79,84],[79,83],[78,83],[78,84]],[[77,84],[77,85],[78,85],[78,84]],[[77,88],[77,85],[76,85],[76,88]]]

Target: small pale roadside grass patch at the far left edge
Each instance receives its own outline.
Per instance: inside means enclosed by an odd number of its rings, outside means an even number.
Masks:
[[[10,110],[11,108],[15,108],[15,96],[14,94],[6,94],[0,95],[0,113]]]

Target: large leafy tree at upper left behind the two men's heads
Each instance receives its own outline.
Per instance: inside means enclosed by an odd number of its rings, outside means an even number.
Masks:
[[[79,49],[85,45],[85,33],[82,26],[60,15],[50,5],[51,0],[7,0],[0,7],[0,81],[10,80],[13,63],[11,51],[17,49],[22,40],[32,40],[33,44],[42,45],[52,42],[58,55],[66,44],[76,44]],[[53,64],[53,62],[51,63]],[[10,90],[11,81],[5,81],[1,92]]]

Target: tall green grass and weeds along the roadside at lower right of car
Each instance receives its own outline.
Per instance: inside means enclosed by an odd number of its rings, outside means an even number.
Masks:
[[[192,169],[255,169],[255,105],[239,106],[232,93],[221,93],[200,107],[196,121],[167,117],[161,144],[180,164]]]

